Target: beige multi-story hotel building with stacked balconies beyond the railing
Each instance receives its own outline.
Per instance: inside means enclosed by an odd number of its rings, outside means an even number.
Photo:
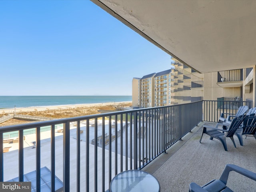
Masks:
[[[146,108],[203,99],[252,101],[252,68],[200,74],[172,60],[170,70],[133,79],[133,106]]]

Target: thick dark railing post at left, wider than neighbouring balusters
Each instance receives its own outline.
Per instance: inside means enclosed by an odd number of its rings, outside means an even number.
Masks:
[[[63,191],[70,191],[70,122],[63,125]]]

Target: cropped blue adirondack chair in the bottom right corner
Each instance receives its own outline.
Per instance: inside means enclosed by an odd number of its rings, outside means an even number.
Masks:
[[[200,187],[198,184],[194,182],[190,183],[189,191],[190,192],[224,192],[224,191],[232,192],[232,190],[226,186],[228,181],[228,175],[231,171],[237,172],[239,174],[242,174],[243,176],[246,176],[256,181],[256,173],[236,165],[226,164],[222,172],[222,175],[220,176],[220,179],[217,179],[217,180],[214,179],[202,187]],[[244,191],[246,191],[246,189]]]

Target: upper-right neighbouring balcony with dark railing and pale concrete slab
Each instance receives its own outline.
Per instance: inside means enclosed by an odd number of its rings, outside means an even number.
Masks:
[[[223,88],[242,86],[243,69],[219,71],[217,84]]]

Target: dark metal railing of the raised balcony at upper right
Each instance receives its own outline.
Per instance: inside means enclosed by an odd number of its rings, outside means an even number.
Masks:
[[[243,69],[226,70],[218,72],[218,82],[242,81]]]

